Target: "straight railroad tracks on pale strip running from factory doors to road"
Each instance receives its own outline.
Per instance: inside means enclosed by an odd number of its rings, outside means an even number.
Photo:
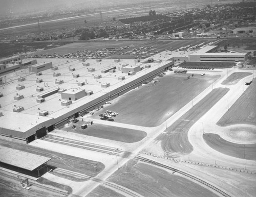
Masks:
[[[82,141],[75,141],[72,139],[68,138],[60,138],[60,137],[55,137],[48,135],[47,137],[44,138],[45,141],[50,141],[50,142],[55,142],[63,145],[70,145],[73,147],[79,147],[80,149],[86,149],[90,151],[97,151],[101,153],[106,153],[109,155],[121,155],[123,153],[122,150],[117,149],[115,147],[111,146],[104,146],[104,145],[97,145],[93,143],[88,143],[88,142],[82,142]]]

